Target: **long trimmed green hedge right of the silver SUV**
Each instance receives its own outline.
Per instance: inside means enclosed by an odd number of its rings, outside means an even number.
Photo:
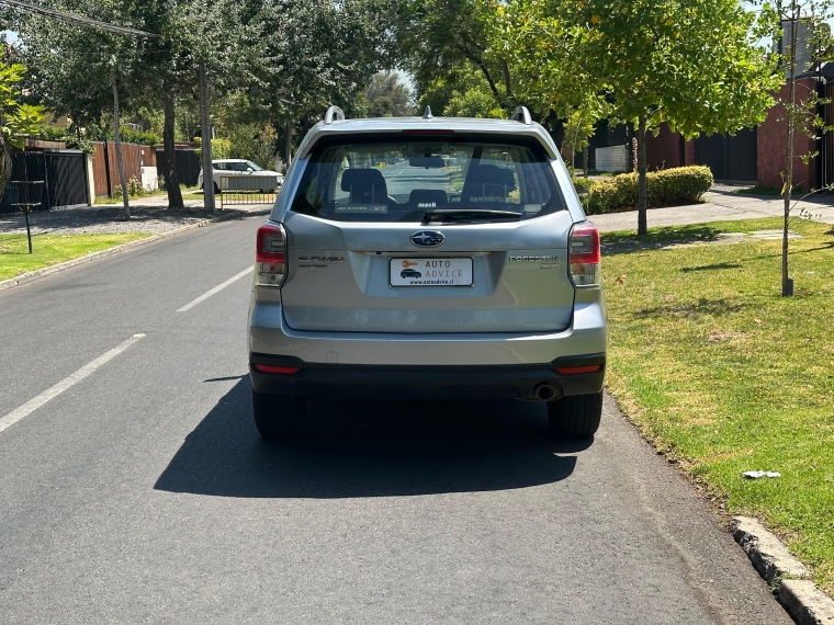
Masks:
[[[634,211],[638,205],[638,174],[622,173],[605,180],[583,181],[587,195],[582,204],[588,215]],[[646,205],[650,208],[698,202],[710,186],[712,172],[702,166],[676,167],[646,174]]]

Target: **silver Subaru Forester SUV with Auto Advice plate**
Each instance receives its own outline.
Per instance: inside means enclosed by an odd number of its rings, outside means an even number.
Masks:
[[[249,308],[255,423],[296,433],[318,398],[545,402],[599,427],[599,232],[550,135],[511,121],[346,121],[302,141],[258,230]]]

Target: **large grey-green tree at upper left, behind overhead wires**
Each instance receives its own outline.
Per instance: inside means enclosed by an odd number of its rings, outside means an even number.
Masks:
[[[174,167],[176,99],[193,99],[198,66],[207,66],[214,88],[224,93],[250,79],[247,54],[258,33],[241,27],[252,2],[230,0],[71,0],[63,3],[78,15],[140,27],[161,35],[145,41],[78,25],[19,18],[21,55],[32,65],[31,98],[75,127],[94,127],[119,100],[119,109],[164,110],[162,141],[169,205],[183,206]],[[255,4],[255,10],[259,4]],[[116,118],[114,116],[114,122]],[[117,150],[119,151],[119,150]],[[123,189],[125,211],[127,194]]]

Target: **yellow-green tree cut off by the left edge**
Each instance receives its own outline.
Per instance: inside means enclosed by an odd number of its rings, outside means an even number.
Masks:
[[[0,196],[12,174],[10,147],[23,149],[23,136],[37,132],[43,107],[21,102],[20,82],[26,68],[0,55]]]

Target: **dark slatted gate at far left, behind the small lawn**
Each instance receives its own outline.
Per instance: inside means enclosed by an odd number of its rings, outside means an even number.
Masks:
[[[44,183],[43,202],[35,211],[88,206],[87,159],[81,150],[13,151],[10,182]],[[18,213],[12,190],[0,198],[0,214]]]

